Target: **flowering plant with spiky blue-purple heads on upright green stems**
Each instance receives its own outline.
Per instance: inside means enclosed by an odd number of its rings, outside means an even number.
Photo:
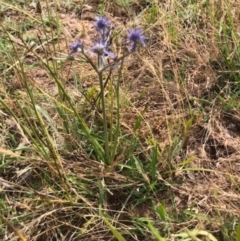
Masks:
[[[121,57],[115,56],[115,54],[111,51],[111,30],[113,25],[109,22],[109,20],[105,17],[99,17],[96,19],[94,26],[99,33],[100,38],[95,42],[95,44],[89,48],[85,49],[83,42],[77,41],[75,43],[70,44],[70,56],[80,52],[83,55],[83,58],[88,62],[92,68],[96,71],[99,79],[100,85],[100,99],[101,99],[101,108],[103,115],[103,129],[104,129],[104,152],[105,152],[105,160],[106,164],[110,164],[115,156],[117,146],[118,146],[118,137],[120,133],[120,103],[119,103],[119,83],[121,79],[121,72],[124,63],[124,59],[135,52],[138,46],[146,46],[145,40],[147,39],[145,35],[143,35],[140,29],[131,29],[129,30],[128,36],[126,38],[126,42],[128,44],[128,51],[124,53]],[[92,55],[97,56],[97,63],[95,64],[92,60]],[[107,58],[112,59],[111,62],[107,61]],[[111,71],[116,66],[120,66],[118,80],[115,85],[115,93],[116,93],[116,101],[117,101],[117,123],[115,131],[110,127],[110,131],[108,130],[108,120],[107,113],[105,108],[105,94],[104,89],[107,85],[107,81],[109,76],[111,75]],[[108,78],[105,80],[103,77],[103,71],[109,70],[110,74]],[[96,101],[95,101],[96,103]],[[109,133],[110,132],[110,133]],[[111,140],[113,145],[109,147],[109,136],[113,136],[114,133],[114,141]]]

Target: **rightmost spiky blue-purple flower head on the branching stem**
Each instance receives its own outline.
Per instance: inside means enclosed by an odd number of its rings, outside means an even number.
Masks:
[[[127,36],[127,41],[130,42],[130,52],[136,50],[137,44],[141,44],[143,47],[146,46],[145,40],[147,37],[142,34],[142,30],[140,29],[130,29],[129,34]]]

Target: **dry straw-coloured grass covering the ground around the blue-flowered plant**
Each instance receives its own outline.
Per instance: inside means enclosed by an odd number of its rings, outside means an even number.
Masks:
[[[11,1],[1,10],[0,238],[116,240],[105,217],[126,240],[155,240],[147,219],[166,240],[193,229],[234,240],[240,217],[239,0],[136,0],[128,7],[126,1],[105,1],[104,7],[95,0],[44,1],[42,15],[26,2]],[[67,56],[74,40],[91,44],[92,21],[102,8],[116,25],[115,52],[133,25],[149,38],[123,70],[122,146],[110,166],[94,159],[84,138],[64,130],[53,101],[60,103],[56,77],[89,126],[94,118],[101,123],[85,98],[99,93],[94,72],[53,59]],[[33,141],[47,138],[30,118],[26,81],[55,123],[56,130],[43,118],[55,156]],[[154,146],[155,180],[149,167]]]

